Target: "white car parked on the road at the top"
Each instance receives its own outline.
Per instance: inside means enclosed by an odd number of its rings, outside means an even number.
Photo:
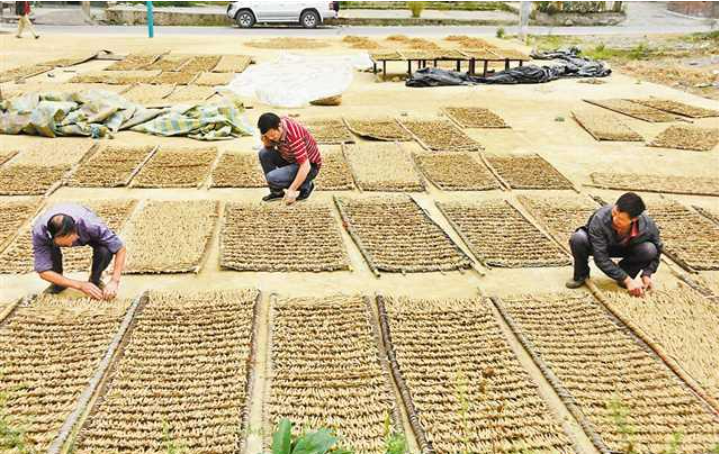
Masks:
[[[241,28],[250,28],[257,23],[300,24],[315,28],[325,19],[337,17],[340,2],[273,2],[244,1],[230,2],[227,17]]]

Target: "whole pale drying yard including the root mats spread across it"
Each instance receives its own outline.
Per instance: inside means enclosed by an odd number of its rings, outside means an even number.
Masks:
[[[100,87],[148,106],[216,96],[206,84],[284,50],[358,52],[3,39],[3,94]],[[57,65],[98,49],[130,57]],[[413,89],[357,72],[339,106],[253,100],[250,124],[291,114],[326,153],[292,207],[260,205],[252,137],[0,136],[0,424],[53,454],[166,452],[168,438],[257,454],[282,417],[357,454],[386,452],[386,430],[425,454],[715,452],[719,103],[604,82]],[[634,300],[593,267],[593,294],[565,293],[569,235],[625,190],[664,232],[659,289]],[[128,244],[114,302],[33,296],[33,218],[65,201]],[[66,252],[66,271],[84,279],[88,255]]]

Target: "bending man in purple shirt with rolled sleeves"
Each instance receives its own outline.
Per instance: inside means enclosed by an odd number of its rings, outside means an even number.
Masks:
[[[125,267],[125,245],[95,213],[75,203],[49,208],[32,228],[35,271],[51,284],[50,293],[74,288],[93,299],[113,299]],[[63,247],[92,247],[92,268],[89,282],[68,279],[62,275]],[[102,273],[115,257],[112,279],[102,283]]]

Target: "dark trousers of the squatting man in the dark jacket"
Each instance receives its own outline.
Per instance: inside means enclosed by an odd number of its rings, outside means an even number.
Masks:
[[[589,277],[589,256],[592,255],[592,245],[589,235],[584,229],[579,229],[569,239],[569,246],[574,257],[574,280],[580,281]],[[653,243],[639,243],[631,247],[609,247],[610,257],[621,257],[619,268],[623,269],[632,278],[646,268],[657,256],[657,247]]]

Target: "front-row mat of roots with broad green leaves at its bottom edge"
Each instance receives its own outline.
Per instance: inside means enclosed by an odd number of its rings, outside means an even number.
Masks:
[[[401,433],[401,423],[369,302],[285,299],[270,311],[265,428],[288,418],[296,430],[324,427],[357,452],[384,454],[385,430]]]

